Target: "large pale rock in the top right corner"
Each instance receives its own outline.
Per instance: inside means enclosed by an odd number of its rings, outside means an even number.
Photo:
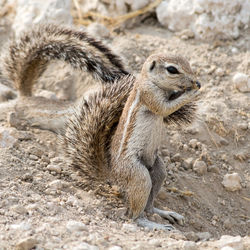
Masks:
[[[173,31],[190,29],[202,39],[238,38],[249,25],[249,0],[167,0],[157,7],[159,22]]]

